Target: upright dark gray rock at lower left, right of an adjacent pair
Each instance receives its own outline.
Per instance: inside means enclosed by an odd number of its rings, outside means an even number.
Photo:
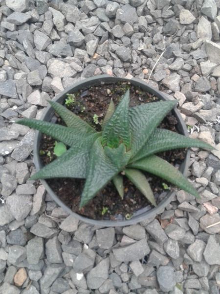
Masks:
[[[50,263],[63,262],[61,244],[57,236],[54,236],[52,239],[46,242],[45,253],[46,258]]]

